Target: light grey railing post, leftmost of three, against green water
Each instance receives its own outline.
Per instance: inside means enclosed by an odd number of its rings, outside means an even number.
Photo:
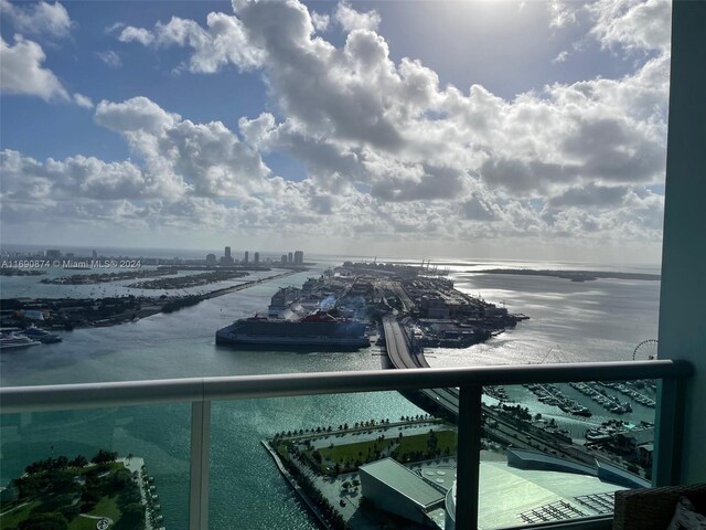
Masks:
[[[191,469],[189,530],[208,529],[208,454],[211,448],[211,402],[191,404]]]

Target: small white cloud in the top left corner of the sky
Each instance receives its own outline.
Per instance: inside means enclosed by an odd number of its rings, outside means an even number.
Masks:
[[[58,2],[23,4],[0,0],[0,12],[25,34],[65,38],[73,25],[66,9]]]

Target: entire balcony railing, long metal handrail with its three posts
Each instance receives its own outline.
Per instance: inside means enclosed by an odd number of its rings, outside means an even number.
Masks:
[[[458,388],[456,528],[478,527],[481,394],[485,385],[657,380],[652,484],[678,483],[684,389],[693,374],[684,361],[505,365],[366,372],[317,372],[228,378],[129,381],[0,389],[2,414],[105,406],[191,405],[190,530],[208,528],[211,403],[314,394]],[[606,519],[603,519],[605,524]],[[557,528],[553,526],[553,528]],[[559,527],[560,528],[560,527]],[[565,526],[564,528],[568,528]]]

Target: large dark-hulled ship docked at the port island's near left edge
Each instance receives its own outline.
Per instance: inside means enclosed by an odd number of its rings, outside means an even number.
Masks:
[[[216,344],[228,346],[357,350],[370,343],[363,322],[327,311],[315,311],[298,320],[256,315],[216,331]]]

